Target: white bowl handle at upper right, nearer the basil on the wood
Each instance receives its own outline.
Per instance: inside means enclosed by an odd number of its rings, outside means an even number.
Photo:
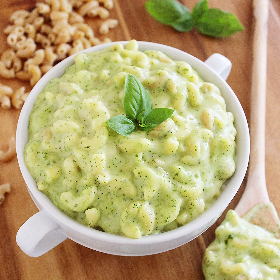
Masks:
[[[212,54],[204,61],[205,64],[210,66],[217,72],[224,80],[227,79],[231,72],[231,61],[221,54]]]

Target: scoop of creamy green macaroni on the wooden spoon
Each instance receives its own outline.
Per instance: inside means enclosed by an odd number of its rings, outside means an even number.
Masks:
[[[203,257],[206,280],[280,279],[280,239],[229,210]]]

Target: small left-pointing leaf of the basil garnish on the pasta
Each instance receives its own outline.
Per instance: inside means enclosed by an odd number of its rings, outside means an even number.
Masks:
[[[125,115],[113,116],[105,124],[123,136],[128,136],[135,130],[135,123]]]

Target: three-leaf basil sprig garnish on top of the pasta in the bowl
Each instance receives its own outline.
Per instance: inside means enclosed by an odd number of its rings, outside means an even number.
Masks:
[[[123,136],[128,136],[136,129],[149,131],[166,121],[174,112],[169,108],[152,109],[147,89],[130,74],[125,77],[123,106],[126,115],[113,116],[105,122]]]

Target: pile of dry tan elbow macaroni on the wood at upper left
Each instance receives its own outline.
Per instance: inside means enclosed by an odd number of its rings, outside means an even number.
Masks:
[[[0,76],[35,83],[53,65],[69,55],[103,42],[85,17],[100,17],[99,33],[105,35],[118,25],[109,18],[113,0],[43,0],[31,11],[17,10],[4,29],[9,48],[0,57]],[[0,84],[0,104],[4,109],[20,109],[28,93],[25,87],[13,91]]]

